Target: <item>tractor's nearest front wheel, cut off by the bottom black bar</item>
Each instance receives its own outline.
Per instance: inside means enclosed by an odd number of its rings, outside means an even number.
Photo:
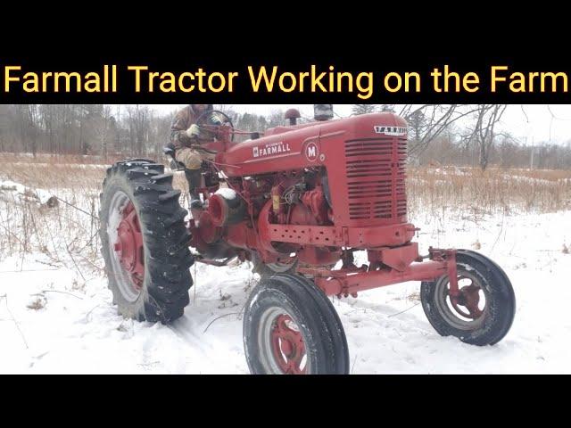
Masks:
[[[246,304],[244,349],[252,374],[348,374],[349,351],[331,301],[302,276],[262,279]]]

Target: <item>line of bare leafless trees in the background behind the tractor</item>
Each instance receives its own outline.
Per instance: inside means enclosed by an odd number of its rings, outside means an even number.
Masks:
[[[538,141],[533,146],[500,132],[505,105],[378,105],[408,120],[410,161],[423,165],[571,169],[571,142]],[[267,115],[227,111],[238,129],[263,132],[284,125],[282,111]],[[549,107],[548,107],[549,109]],[[523,110],[523,109],[522,109]],[[550,110],[550,109],[549,109]],[[525,114],[525,110],[524,114]],[[121,112],[123,114],[121,114]],[[552,120],[567,120],[551,112]],[[103,104],[0,104],[0,152],[153,155],[159,158],[169,138],[169,114],[153,115],[147,106]],[[313,118],[303,118],[310,123]],[[236,136],[244,141],[250,136]]]

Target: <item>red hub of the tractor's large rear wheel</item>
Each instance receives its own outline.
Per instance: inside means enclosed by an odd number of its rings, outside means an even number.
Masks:
[[[145,251],[143,234],[133,202],[121,210],[121,221],[114,243],[121,266],[128,272],[133,288],[140,292],[145,279]]]

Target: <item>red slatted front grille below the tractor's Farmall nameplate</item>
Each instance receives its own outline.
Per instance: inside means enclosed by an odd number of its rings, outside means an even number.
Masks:
[[[345,142],[349,218],[397,219],[407,215],[407,139],[367,138]]]

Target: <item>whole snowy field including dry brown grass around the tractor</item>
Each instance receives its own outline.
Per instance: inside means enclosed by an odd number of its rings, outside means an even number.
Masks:
[[[174,325],[117,315],[97,235],[105,168],[0,155],[0,373],[248,373],[242,311],[258,281],[248,263],[194,266]],[[335,299],[352,373],[571,373],[571,171],[410,169],[408,190],[421,252],[469,248],[497,261],[516,321],[500,344],[474,348],[434,332],[418,284]]]

